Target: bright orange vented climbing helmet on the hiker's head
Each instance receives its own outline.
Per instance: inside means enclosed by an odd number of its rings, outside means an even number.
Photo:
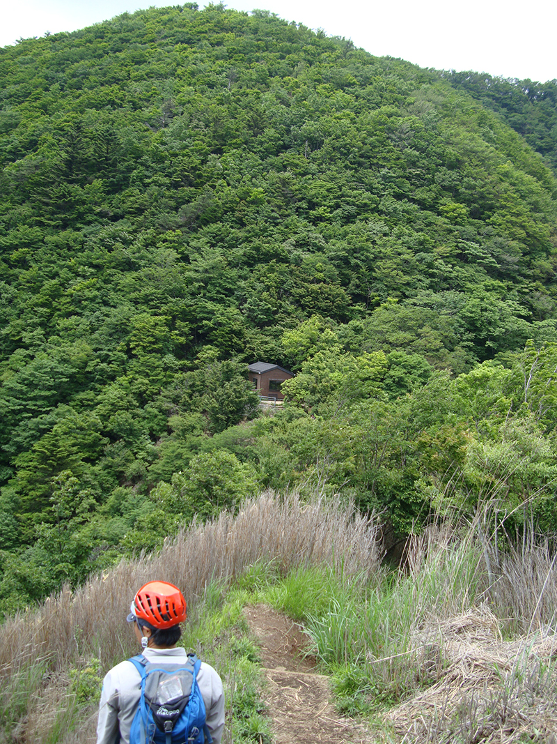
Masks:
[[[128,623],[145,620],[155,629],[172,628],[186,620],[186,600],[177,586],[166,581],[144,584],[131,603]]]

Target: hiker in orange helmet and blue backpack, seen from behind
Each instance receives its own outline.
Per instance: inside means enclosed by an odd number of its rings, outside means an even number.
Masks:
[[[97,744],[221,744],[224,693],[209,664],[177,647],[186,600],[174,584],[150,581],[131,603],[142,652],[102,682]]]

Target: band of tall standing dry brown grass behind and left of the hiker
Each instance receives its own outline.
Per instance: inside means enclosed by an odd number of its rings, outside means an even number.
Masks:
[[[107,670],[136,651],[125,618],[134,592],[146,581],[175,583],[191,607],[212,580],[233,580],[260,561],[273,561],[283,574],[300,565],[326,564],[348,576],[362,571],[369,576],[380,566],[377,536],[378,525],[339,501],[264,493],[247,501],[237,516],[221,513],[215,522],[194,524],[159,554],[125,560],[81,589],[63,589],[8,619],[0,626],[0,684],[40,664],[48,669],[38,684],[30,683],[35,694],[16,740],[44,740],[45,726],[70,710],[65,676],[70,667],[94,656]],[[89,711],[80,731],[68,731],[63,740],[92,741],[93,730]],[[80,739],[72,738],[78,734]]]

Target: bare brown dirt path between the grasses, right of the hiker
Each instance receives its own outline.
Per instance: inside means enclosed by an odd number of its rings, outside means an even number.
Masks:
[[[267,710],[276,744],[371,744],[362,725],[339,716],[330,702],[328,676],[315,672],[305,658],[307,639],[289,618],[265,605],[250,606],[244,615],[261,647],[267,676]]]

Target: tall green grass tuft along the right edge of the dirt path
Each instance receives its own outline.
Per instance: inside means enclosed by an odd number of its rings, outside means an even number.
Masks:
[[[484,589],[481,548],[448,525],[433,525],[407,545],[406,560],[381,584],[334,597],[306,626],[316,655],[336,670],[347,711],[400,702],[437,679],[443,665],[435,618],[466,612]]]

